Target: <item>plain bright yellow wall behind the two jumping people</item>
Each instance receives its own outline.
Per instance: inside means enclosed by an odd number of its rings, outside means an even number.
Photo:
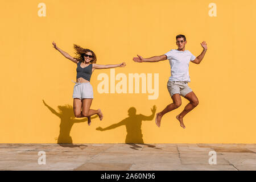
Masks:
[[[38,15],[40,2],[46,5],[46,16]],[[210,3],[217,5],[216,17],[208,14]],[[64,143],[125,143],[124,125],[107,131],[96,128],[123,119],[141,122],[139,117],[128,118],[130,107],[149,116],[153,105],[159,112],[172,102],[166,88],[168,60],[134,63],[132,59],[137,54],[151,57],[175,49],[177,34],[187,36],[186,49],[195,56],[202,51],[200,42],[208,44],[203,62],[189,66],[189,86],[200,104],[184,117],[185,130],[175,119],[188,103],[182,98],[183,105],[164,115],[160,128],[154,117],[142,121],[142,126],[132,123],[134,132],[141,129],[145,143],[256,142],[256,1],[16,0],[1,1],[0,7],[0,143],[57,143],[57,138]],[[96,70],[91,79],[91,108],[101,108],[104,119],[93,119],[89,127],[86,122],[72,125],[76,65],[52,48],[52,41],[72,56],[73,43],[90,48],[98,64],[125,61],[126,68],[115,68],[115,74],[158,73],[159,97],[100,94],[97,77],[100,73],[110,76],[110,69]],[[43,100],[57,113],[58,108],[64,109],[62,118]],[[60,129],[66,133],[59,137]],[[141,139],[130,135],[133,142]]]

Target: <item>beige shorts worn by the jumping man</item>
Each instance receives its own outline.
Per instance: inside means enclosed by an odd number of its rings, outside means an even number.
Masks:
[[[171,97],[179,93],[181,96],[185,97],[189,92],[192,92],[192,89],[188,86],[187,81],[168,81],[167,89]]]

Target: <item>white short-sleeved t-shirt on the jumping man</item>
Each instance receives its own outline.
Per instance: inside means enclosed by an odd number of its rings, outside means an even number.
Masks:
[[[171,76],[169,81],[188,81],[190,82],[190,76],[188,73],[189,61],[196,59],[196,56],[188,50],[178,51],[177,49],[171,49],[171,51],[165,53],[167,59],[171,65]]]

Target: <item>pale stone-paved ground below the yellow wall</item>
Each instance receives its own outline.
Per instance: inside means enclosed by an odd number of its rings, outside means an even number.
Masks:
[[[256,170],[255,152],[256,144],[0,144],[0,170]]]

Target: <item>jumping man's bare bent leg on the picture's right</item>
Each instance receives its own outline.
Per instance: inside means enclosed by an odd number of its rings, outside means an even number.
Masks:
[[[183,129],[185,129],[185,125],[183,123],[183,117],[199,104],[199,100],[193,91],[185,95],[184,98],[186,98],[189,101],[189,103],[185,106],[184,110],[179,115],[176,116],[176,118],[180,122],[180,126],[183,127]]]

